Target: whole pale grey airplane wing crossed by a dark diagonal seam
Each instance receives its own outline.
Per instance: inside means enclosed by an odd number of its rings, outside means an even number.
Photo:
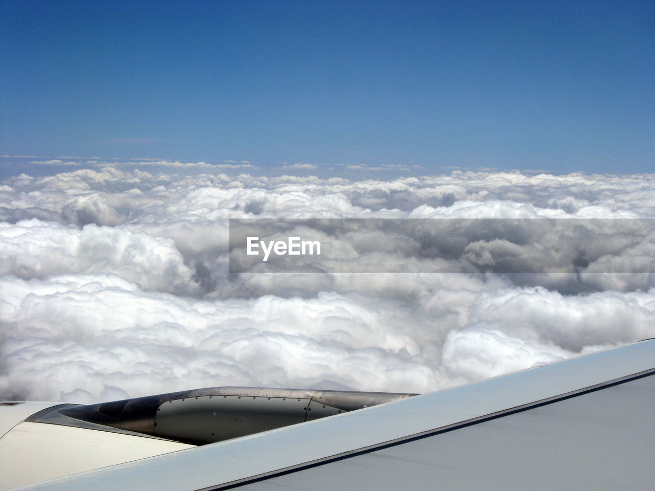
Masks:
[[[654,375],[655,340],[644,340],[26,488],[652,489]]]

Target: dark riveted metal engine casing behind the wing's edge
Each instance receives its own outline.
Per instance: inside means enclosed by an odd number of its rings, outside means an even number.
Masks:
[[[67,405],[49,414],[47,422],[103,426],[202,445],[413,395],[416,394],[210,387],[88,406]]]

